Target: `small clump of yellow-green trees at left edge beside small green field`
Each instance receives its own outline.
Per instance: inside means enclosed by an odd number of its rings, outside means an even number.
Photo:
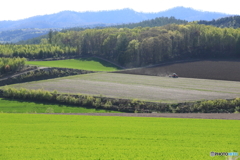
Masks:
[[[25,58],[0,58],[0,75],[8,72],[16,72],[25,66]]]

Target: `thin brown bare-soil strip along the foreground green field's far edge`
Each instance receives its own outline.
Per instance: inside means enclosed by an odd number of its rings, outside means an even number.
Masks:
[[[240,114],[230,114],[230,113],[49,113],[49,114],[240,120]]]

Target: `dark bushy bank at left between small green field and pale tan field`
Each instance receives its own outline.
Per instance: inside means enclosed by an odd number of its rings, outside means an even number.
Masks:
[[[11,77],[11,78],[2,80],[2,81],[0,81],[0,86],[14,84],[14,83],[21,83],[21,82],[51,79],[51,78],[56,78],[56,77],[65,77],[65,76],[78,75],[78,74],[87,74],[87,73],[93,73],[93,71],[68,69],[68,68],[39,69],[39,70],[34,70],[34,71],[30,71],[30,72],[21,74],[21,75],[16,76],[16,77]]]

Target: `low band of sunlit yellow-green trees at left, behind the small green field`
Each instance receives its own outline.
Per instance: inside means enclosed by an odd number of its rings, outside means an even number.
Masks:
[[[47,41],[38,45],[15,45],[15,44],[1,44],[0,57],[25,57],[29,59],[43,59],[52,57],[61,57],[76,55],[77,48],[66,45],[51,45]]]

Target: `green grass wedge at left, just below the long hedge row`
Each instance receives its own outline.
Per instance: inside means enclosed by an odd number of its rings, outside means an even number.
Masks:
[[[1,113],[119,113],[116,111],[87,109],[67,105],[34,103],[0,98]]]

